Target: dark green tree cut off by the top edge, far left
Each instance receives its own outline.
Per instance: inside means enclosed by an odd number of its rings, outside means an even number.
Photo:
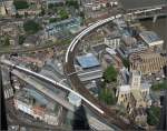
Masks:
[[[13,1],[13,4],[14,4],[14,7],[16,7],[17,10],[29,8],[28,2],[27,2],[27,1],[23,1],[23,0],[14,0],[14,1]]]

